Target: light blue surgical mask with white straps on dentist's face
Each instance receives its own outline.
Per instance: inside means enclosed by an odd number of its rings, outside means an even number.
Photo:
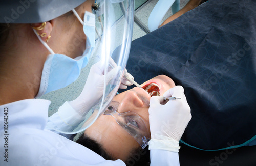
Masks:
[[[73,10],[73,12],[75,11]],[[36,97],[70,85],[79,77],[81,69],[86,67],[89,61],[95,45],[95,15],[86,11],[83,19],[84,22],[81,21],[76,12],[75,15],[82,23],[83,31],[87,36],[86,50],[84,50],[82,56],[72,59],[63,54],[54,53],[46,42],[42,41],[38,36],[41,43],[45,45],[51,54],[47,57],[44,64],[40,87]]]

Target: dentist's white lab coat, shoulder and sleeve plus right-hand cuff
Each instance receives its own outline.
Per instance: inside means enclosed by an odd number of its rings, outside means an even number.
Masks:
[[[8,162],[1,157],[0,165],[125,165],[121,160],[105,160],[90,149],[46,129],[50,103],[27,99],[0,106],[0,150],[2,155],[8,152]],[[7,114],[4,114],[5,108],[8,108]],[[5,123],[8,128],[4,128]],[[151,165],[179,165],[178,153],[151,150]]]

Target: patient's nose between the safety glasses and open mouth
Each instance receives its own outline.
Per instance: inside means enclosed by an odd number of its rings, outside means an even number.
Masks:
[[[123,97],[121,103],[119,103],[118,112],[124,113],[127,111],[132,111],[136,107],[142,107],[143,101],[138,97],[137,93],[134,91],[129,91]]]

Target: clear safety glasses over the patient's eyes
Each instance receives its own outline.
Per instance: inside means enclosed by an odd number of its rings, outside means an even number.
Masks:
[[[143,119],[136,113],[128,111],[125,113],[118,113],[119,102],[112,101],[104,115],[111,115],[115,118],[116,122],[125,129],[144,149],[150,140],[150,133],[147,130],[146,124]]]

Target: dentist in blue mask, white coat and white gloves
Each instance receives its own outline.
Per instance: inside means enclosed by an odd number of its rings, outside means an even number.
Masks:
[[[4,155],[1,165],[124,165],[119,159],[105,160],[47,128],[47,123],[54,122],[51,117],[48,119],[51,102],[35,99],[70,85],[88,65],[95,46],[92,9],[97,10],[94,0],[13,0],[0,3],[0,150]],[[90,109],[94,105],[92,102],[100,96],[88,98],[84,97],[85,94],[89,91],[103,93],[100,89],[103,81],[120,75],[120,67],[113,65],[113,69],[105,71],[100,63],[95,63],[81,95],[62,106],[78,114]],[[102,76],[106,79],[101,79]],[[102,82],[95,82],[95,77]],[[131,83],[122,78],[120,88],[127,85]],[[173,156],[171,158],[177,163],[178,140],[191,118],[183,89],[170,90],[167,97],[173,93],[182,96],[183,100],[173,105],[161,105],[163,100],[159,98],[151,102],[150,125],[154,139],[150,147],[155,163],[166,163],[166,158],[159,159],[159,154]],[[159,108],[163,110],[160,116],[154,113]],[[182,111],[176,115],[178,110]],[[164,115],[169,114],[175,114],[176,119],[168,124],[178,129],[158,132],[161,128],[159,120],[167,121]],[[152,117],[158,118],[151,120]],[[169,144],[169,148],[159,148],[165,144]]]

